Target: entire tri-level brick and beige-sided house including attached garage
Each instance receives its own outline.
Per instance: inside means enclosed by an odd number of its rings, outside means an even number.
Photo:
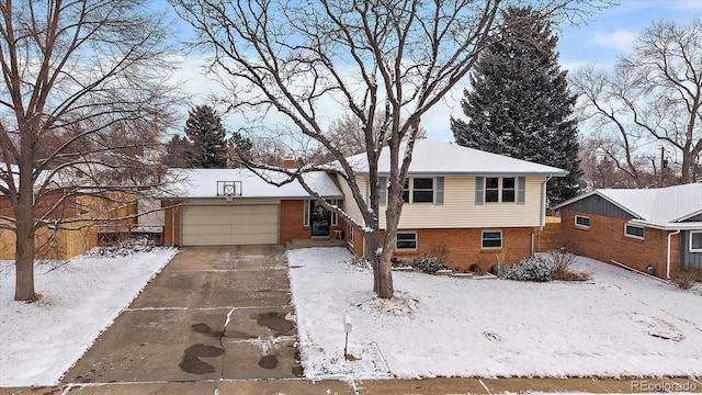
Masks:
[[[388,156],[386,149],[380,159],[382,183],[389,174]],[[362,192],[367,194],[365,154],[349,159]],[[275,187],[246,169],[173,169],[170,173],[180,182],[162,200],[166,245],[341,238],[355,255],[369,253],[363,237],[297,182]],[[460,270],[473,263],[487,270],[497,262],[529,257],[544,226],[547,181],[566,173],[448,143],[418,140],[405,189],[396,256],[410,260],[422,253],[435,255]],[[325,172],[306,177],[313,189],[363,224],[344,182]],[[384,204],[386,196],[381,198]]]

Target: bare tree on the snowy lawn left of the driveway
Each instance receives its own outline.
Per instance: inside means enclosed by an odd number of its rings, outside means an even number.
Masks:
[[[80,194],[135,190],[126,181],[156,156],[173,57],[148,1],[7,0],[0,11],[0,192],[12,206],[0,226],[16,235],[14,298],[32,301],[37,230],[69,226],[63,211]]]

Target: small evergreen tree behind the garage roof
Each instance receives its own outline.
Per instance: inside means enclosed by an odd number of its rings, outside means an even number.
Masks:
[[[197,105],[190,110],[184,131],[192,143],[186,155],[189,167],[200,169],[227,167],[227,132],[222,125],[222,117],[212,106]]]

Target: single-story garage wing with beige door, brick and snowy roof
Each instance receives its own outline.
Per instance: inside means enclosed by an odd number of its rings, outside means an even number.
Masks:
[[[312,199],[296,181],[276,187],[248,169],[171,169],[167,177],[172,190],[161,201],[166,246],[257,245],[341,237],[337,215]],[[328,174],[309,173],[306,181],[329,202],[342,205],[343,195]]]

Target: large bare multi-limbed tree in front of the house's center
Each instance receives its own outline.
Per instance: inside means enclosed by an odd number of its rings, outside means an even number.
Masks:
[[[275,127],[291,132],[285,138],[292,148],[304,149],[314,140],[335,160],[333,166],[308,162],[295,170],[250,166],[286,171],[358,229],[372,251],[374,290],[392,297],[390,258],[421,119],[473,68],[510,1],[170,1],[197,32],[195,44],[212,55],[210,69],[227,88],[223,100],[233,111],[259,129],[265,115],[281,116]],[[569,0],[537,5],[544,14],[574,11]],[[333,104],[362,131],[367,195],[356,180],[358,163],[347,160],[343,145],[327,134]],[[390,162],[387,185],[380,184],[377,171],[384,147]],[[305,183],[305,173],[319,169],[348,187],[352,202],[346,204],[360,208],[362,222]],[[384,213],[378,210],[381,189],[387,189]],[[378,215],[386,218],[384,238]]]

